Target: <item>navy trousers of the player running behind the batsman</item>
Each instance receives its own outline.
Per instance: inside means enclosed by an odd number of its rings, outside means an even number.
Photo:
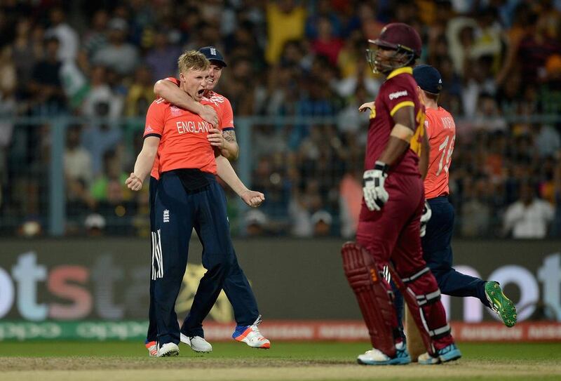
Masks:
[[[440,292],[451,296],[473,296],[489,307],[485,297],[485,281],[457,272],[453,267],[452,232],[454,230],[454,207],[447,196],[428,199],[433,212],[426,225],[426,234],[421,238],[423,258],[436,278]],[[403,296],[393,285],[396,295],[398,321],[403,319]]]

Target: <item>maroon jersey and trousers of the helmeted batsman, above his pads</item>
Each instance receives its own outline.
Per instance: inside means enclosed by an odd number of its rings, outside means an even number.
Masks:
[[[374,102],[374,109],[370,112],[365,170],[374,168],[374,163],[388,145],[390,133],[395,124],[393,115],[398,109],[405,106],[414,107],[415,115],[417,115],[418,126],[412,139],[412,145],[388,172],[385,188],[389,199],[384,208],[380,211],[370,211],[363,199],[356,239],[372,253],[383,255],[384,258],[376,258],[381,262],[387,262],[392,257],[394,248],[399,250],[400,246],[407,245],[404,249],[407,249],[408,253],[415,253],[415,255],[407,255],[407,257],[413,258],[393,258],[393,261],[406,261],[405,268],[402,266],[401,271],[414,272],[425,267],[419,238],[421,228],[419,218],[424,206],[423,180],[419,173],[419,154],[420,140],[424,131],[425,109],[419,100],[417,82],[412,76],[411,67],[394,70],[380,87]],[[398,236],[403,233],[410,234],[411,238],[400,240],[396,248]]]

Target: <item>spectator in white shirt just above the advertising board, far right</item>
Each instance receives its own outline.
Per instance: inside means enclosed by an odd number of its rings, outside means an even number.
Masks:
[[[542,239],[553,220],[553,206],[536,197],[530,182],[520,185],[518,201],[508,206],[503,218],[503,233],[515,239]]]

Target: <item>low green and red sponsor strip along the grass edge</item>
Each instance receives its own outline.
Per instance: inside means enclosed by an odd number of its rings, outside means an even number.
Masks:
[[[452,322],[459,342],[555,342],[561,323],[523,322],[513,328],[501,323]],[[0,341],[23,340],[137,340],[144,342],[147,321],[0,321]],[[362,321],[265,321],[262,333],[274,341],[369,341]],[[210,342],[229,341],[234,323],[205,323]]]

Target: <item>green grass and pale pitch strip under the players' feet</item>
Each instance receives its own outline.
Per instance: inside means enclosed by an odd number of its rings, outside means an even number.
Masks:
[[[561,380],[561,343],[464,343],[453,363],[380,367],[356,364],[364,342],[213,347],[150,359],[137,342],[0,342],[0,380]]]

